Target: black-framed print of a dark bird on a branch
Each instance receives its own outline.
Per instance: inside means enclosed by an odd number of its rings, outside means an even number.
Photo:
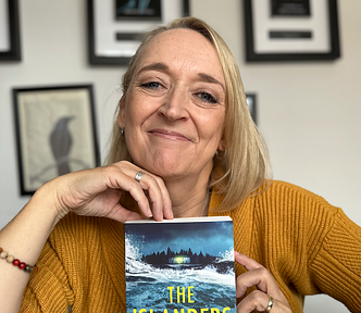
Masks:
[[[100,164],[92,85],[13,88],[21,195]]]

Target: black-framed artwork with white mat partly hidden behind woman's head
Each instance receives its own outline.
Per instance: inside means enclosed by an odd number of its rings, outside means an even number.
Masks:
[[[92,65],[127,65],[145,33],[189,15],[188,0],[88,0]]]

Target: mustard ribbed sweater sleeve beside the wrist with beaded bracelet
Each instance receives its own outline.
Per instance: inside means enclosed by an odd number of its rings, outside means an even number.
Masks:
[[[63,264],[48,240],[37,261],[39,271],[32,274],[24,292],[21,313],[64,313],[74,296]]]

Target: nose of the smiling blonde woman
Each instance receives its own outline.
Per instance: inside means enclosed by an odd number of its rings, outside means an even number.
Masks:
[[[189,117],[187,111],[188,93],[185,88],[172,88],[163,98],[162,105],[158,109],[158,114],[166,117],[169,121],[186,121]]]

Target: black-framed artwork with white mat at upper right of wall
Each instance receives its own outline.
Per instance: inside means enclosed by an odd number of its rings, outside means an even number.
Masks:
[[[244,0],[246,60],[340,57],[337,0]]]

